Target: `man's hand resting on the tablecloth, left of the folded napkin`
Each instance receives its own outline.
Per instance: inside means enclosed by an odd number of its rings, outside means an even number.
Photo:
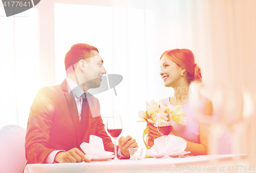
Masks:
[[[84,157],[84,153],[78,148],[72,148],[68,152],[60,152],[55,156],[54,162],[91,162],[88,158]]]

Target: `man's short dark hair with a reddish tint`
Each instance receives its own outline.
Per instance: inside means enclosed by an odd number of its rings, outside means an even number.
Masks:
[[[73,45],[65,56],[66,72],[72,65],[79,62],[79,60],[90,58],[91,51],[99,52],[97,48],[91,45],[82,44],[82,43]]]

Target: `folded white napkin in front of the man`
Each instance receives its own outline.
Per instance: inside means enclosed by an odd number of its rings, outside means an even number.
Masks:
[[[103,140],[94,135],[90,135],[89,143],[83,142],[80,147],[87,156],[92,158],[112,157],[114,154],[113,152],[106,152]]]

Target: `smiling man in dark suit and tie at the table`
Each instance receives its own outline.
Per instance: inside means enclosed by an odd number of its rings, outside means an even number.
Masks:
[[[114,152],[100,116],[100,104],[88,93],[100,87],[106,74],[98,49],[76,44],[65,57],[67,78],[38,91],[32,103],[26,135],[28,163],[90,162],[80,149],[90,135],[103,140],[104,149]],[[120,137],[118,155],[129,157],[128,148],[138,147],[131,136]]]

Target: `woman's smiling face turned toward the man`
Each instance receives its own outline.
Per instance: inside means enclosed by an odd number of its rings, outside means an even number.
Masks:
[[[179,85],[178,81],[181,78],[181,67],[164,55],[160,59],[160,68],[160,75],[164,81],[165,87],[175,87]]]

